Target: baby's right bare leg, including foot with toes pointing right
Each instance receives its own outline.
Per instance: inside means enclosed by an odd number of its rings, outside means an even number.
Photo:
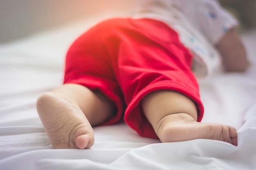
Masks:
[[[181,93],[155,91],[142,99],[142,108],[162,142],[213,139],[237,146],[234,127],[197,122],[194,102]]]

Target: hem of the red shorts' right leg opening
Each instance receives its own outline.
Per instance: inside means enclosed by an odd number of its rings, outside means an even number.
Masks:
[[[155,131],[153,127],[150,125],[148,120],[138,120],[138,116],[136,114],[144,114],[139,111],[140,109],[140,101],[145,97],[147,94],[153,92],[153,91],[159,91],[159,90],[171,90],[171,91],[177,91],[179,93],[182,93],[186,95],[187,97],[191,98],[197,107],[198,110],[198,120],[201,121],[204,113],[204,107],[200,99],[200,95],[195,93],[194,91],[191,91],[188,87],[184,86],[183,84],[180,84],[178,82],[173,82],[169,80],[164,80],[161,82],[156,82],[154,84],[150,84],[146,88],[144,88],[142,91],[140,91],[130,102],[130,104],[126,108],[126,112],[124,115],[124,120],[126,123],[137,133],[142,137],[150,137],[154,139],[159,139],[157,135],[155,134]],[[137,112],[136,112],[137,110]],[[136,113],[134,113],[136,112]],[[143,117],[143,116],[142,116]],[[146,119],[146,117],[145,117]],[[141,121],[141,122],[139,122]]]

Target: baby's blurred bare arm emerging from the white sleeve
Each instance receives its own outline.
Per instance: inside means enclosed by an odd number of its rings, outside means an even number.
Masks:
[[[246,71],[249,61],[236,29],[229,30],[220,39],[216,48],[222,56],[225,71]]]

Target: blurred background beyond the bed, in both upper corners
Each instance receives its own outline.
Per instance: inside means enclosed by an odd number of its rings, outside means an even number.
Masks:
[[[137,0],[0,0],[0,43],[93,15],[128,13]],[[241,22],[256,25],[256,0],[219,0]]]

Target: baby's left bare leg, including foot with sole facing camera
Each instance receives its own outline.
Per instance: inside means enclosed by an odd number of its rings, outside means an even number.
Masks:
[[[78,84],[64,84],[44,93],[36,106],[54,148],[90,148],[94,144],[92,126],[115,113],[109,99]]]

